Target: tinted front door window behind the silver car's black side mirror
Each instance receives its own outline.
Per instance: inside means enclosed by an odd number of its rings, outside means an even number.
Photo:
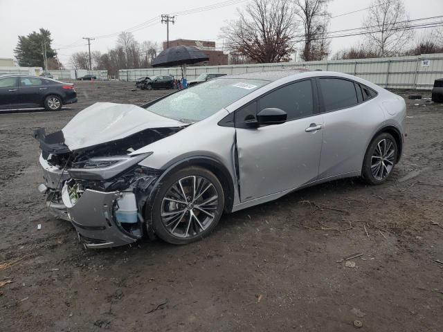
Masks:
[[[260,111],[276,107],[288,113],[288,120],[304,118],[314,113],[314,98],[310,80],[283,86],[260,98]]]

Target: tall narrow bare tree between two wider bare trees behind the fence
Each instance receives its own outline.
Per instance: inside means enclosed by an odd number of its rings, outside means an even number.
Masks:
[[[300,57],[305,61],[321,60],[329,53],[327,36],[330,0],[295,0],[296,15],[304,30],[304,47]]]

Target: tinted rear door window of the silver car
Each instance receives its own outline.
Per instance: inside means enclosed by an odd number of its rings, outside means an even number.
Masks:
[[[354,83],[340,78],[320,78],[325,111],[345,109],[358,103]]]

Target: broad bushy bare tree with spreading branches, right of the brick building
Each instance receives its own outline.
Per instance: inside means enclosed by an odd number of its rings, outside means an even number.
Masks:
[[[253,0],[221,31],[230,53],[257,63],[280,62],[293,52],[293,18],[290,0]]]

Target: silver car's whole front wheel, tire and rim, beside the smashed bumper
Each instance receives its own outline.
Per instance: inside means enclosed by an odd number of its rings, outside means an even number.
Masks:
[[[172,244],[187,244],[213,231],[224,208],[217,176],[202,167],[187,167],[159,185],[152,205],[154,232]]]

